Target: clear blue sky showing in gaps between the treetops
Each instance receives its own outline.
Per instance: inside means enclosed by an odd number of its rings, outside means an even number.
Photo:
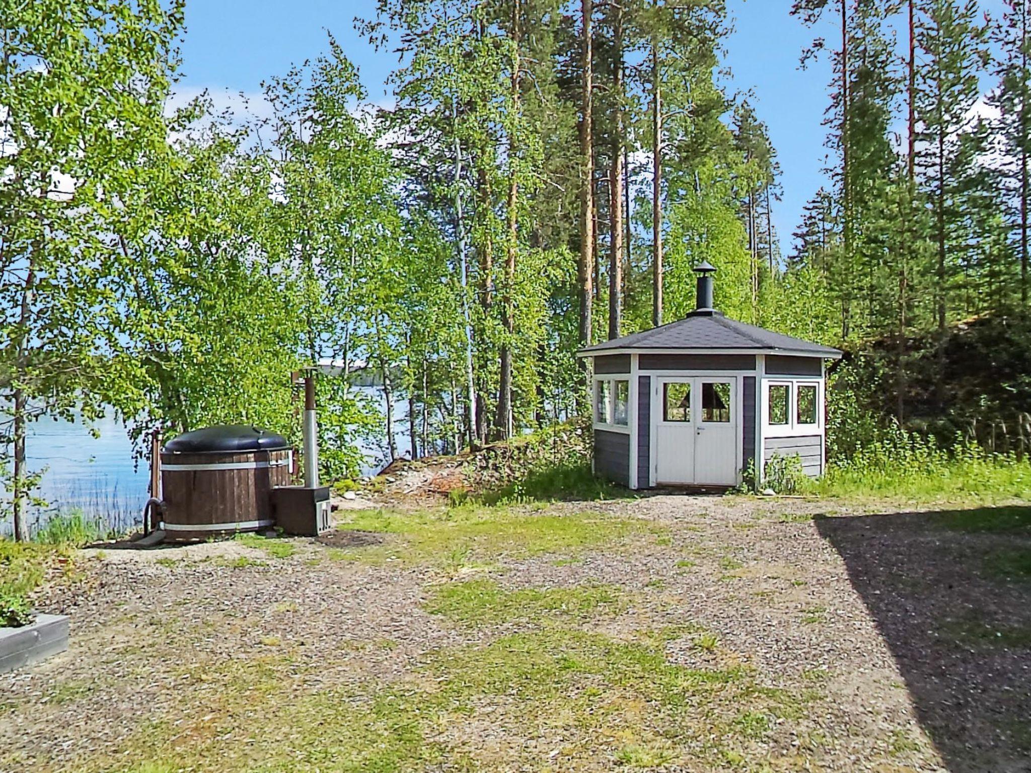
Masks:
[[[789,15],[791,0],[728,4],[736,31],[727,41],[726,64],[734,88],[754,92],[779,156],[784,201],[775,206],[773,222],[787,249],[802,207],[824,181],[829,68],[819,62],[799,70],[799,54],[813,33]],[[257,94],[262,79],[325,51],[328,29],[358,65],[370,99],[386,101],[385,80],[397,56],[374,51],[353,25],[356,15],[373,15],[374,5],[372,0],[188,1],[182,89]]]

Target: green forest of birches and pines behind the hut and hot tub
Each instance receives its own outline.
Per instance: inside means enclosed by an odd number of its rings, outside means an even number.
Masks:
[[[141,447],[213,422],[296,437],[290,374],[320,359],[367,363],[390,406],[381,426],[321,379],[329,477],[354,472],[358,433],[418,457],[547,426],[588,408],[576,349],[683,316],[702,260],[728,315],[849,350],[832,451],[891,416],[1031,438],[1031,0],[795,3],[801,61],[834,77],[812,85],[829,182],[787,254],[775,148],[722,69],[723,0],[381,0],[357,24],[399,59],[395,103],[369,104],[330,38],[268,79],[266,117],[168,108],[181,2],[8,5],[15,516],[27,423],[110,406]]]

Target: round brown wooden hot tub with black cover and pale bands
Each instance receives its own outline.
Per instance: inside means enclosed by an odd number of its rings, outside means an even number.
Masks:
[[[165,539],[208,539],[268,529],[272,489],[290,485],[292,450],[281,435],[246,425],[195,430],[161,451]]]

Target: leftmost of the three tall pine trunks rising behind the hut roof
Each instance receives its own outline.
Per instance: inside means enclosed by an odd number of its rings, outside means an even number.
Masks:
[[[592,342],[591,315],[594,298],[594,66],[592,0],[580,0],[583,15],[580,40],[580,67],[584,72],[580,94],[580,251],[576,265],[579,284],[579,340],[581,346]],[[587,360],[580,360],[587,367]]]

